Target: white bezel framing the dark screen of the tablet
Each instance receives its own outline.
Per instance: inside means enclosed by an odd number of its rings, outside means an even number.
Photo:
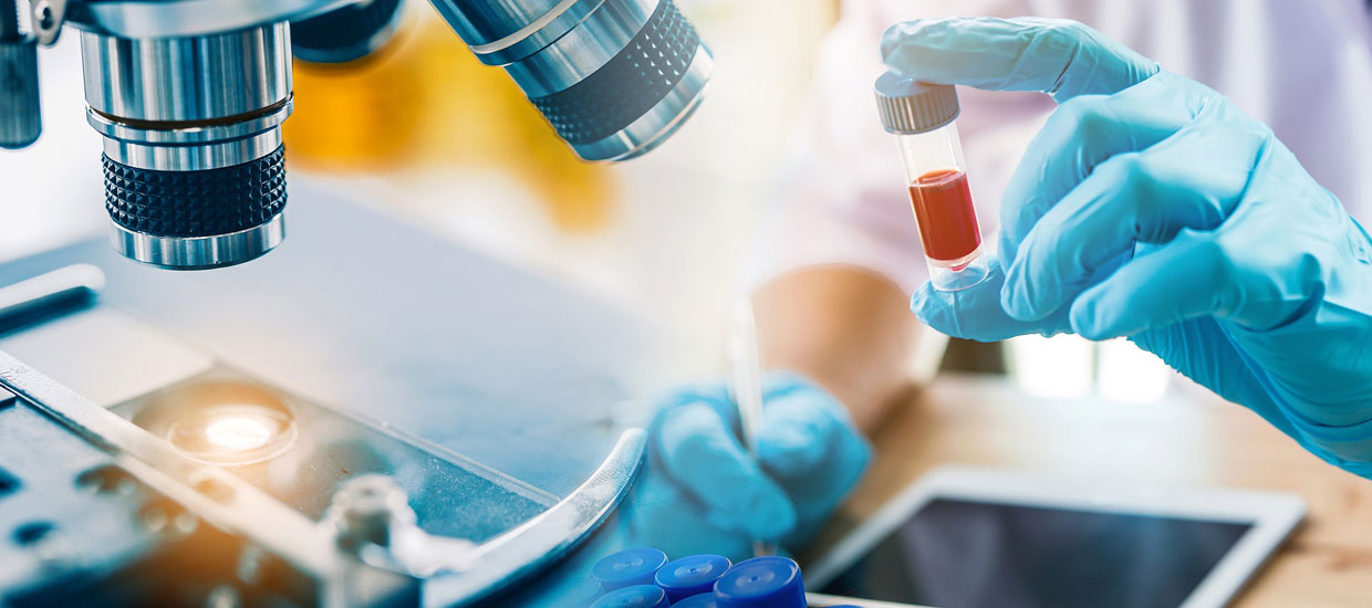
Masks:
[[[1225,605],[1305,518],[1305,500],[1276,492],[1084,482],[1028,472],[948,466],[911,483],[871,519],[805,568],[820,589],[934,498],[1157,515],[1251,524],[1179,608]]]

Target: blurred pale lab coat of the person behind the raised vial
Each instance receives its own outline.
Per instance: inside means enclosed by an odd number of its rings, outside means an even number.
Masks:
[[[814,264],[856,264],[907,292],[926,278],[892,136],[873,81],[892,23],[922,16],[1081,21],[1268,123],[1364,223],[1372,219],[1372,36],[1362,0],[848,0],[825,38],[793,156],[768,214],[753,282]],[[958,121],[984,242],[1000,192],[1054,103],[959,88]]]

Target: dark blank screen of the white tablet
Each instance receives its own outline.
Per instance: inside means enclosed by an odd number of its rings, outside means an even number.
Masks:
[[[934,498],[820,593],[962,607],[1177,607],[1242,522]]]

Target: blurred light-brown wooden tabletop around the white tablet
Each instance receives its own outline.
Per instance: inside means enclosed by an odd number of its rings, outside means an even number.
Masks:
[[[1305,497],[1306,523],[1233,605],[1372,607],[1372,481],[1196,393],[1154,404],[1048,400],[1000,379],[940,377],[875,434],[871,470],[816,548],[943,464],[1280,490]]]

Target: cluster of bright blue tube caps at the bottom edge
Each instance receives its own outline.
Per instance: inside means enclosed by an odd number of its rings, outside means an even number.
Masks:
[[[668,560],[657,549],[626,549],[597,561],[582,589],[576,608],[807,608],[800,566],[778,556],[734,564],[718,555]]]

